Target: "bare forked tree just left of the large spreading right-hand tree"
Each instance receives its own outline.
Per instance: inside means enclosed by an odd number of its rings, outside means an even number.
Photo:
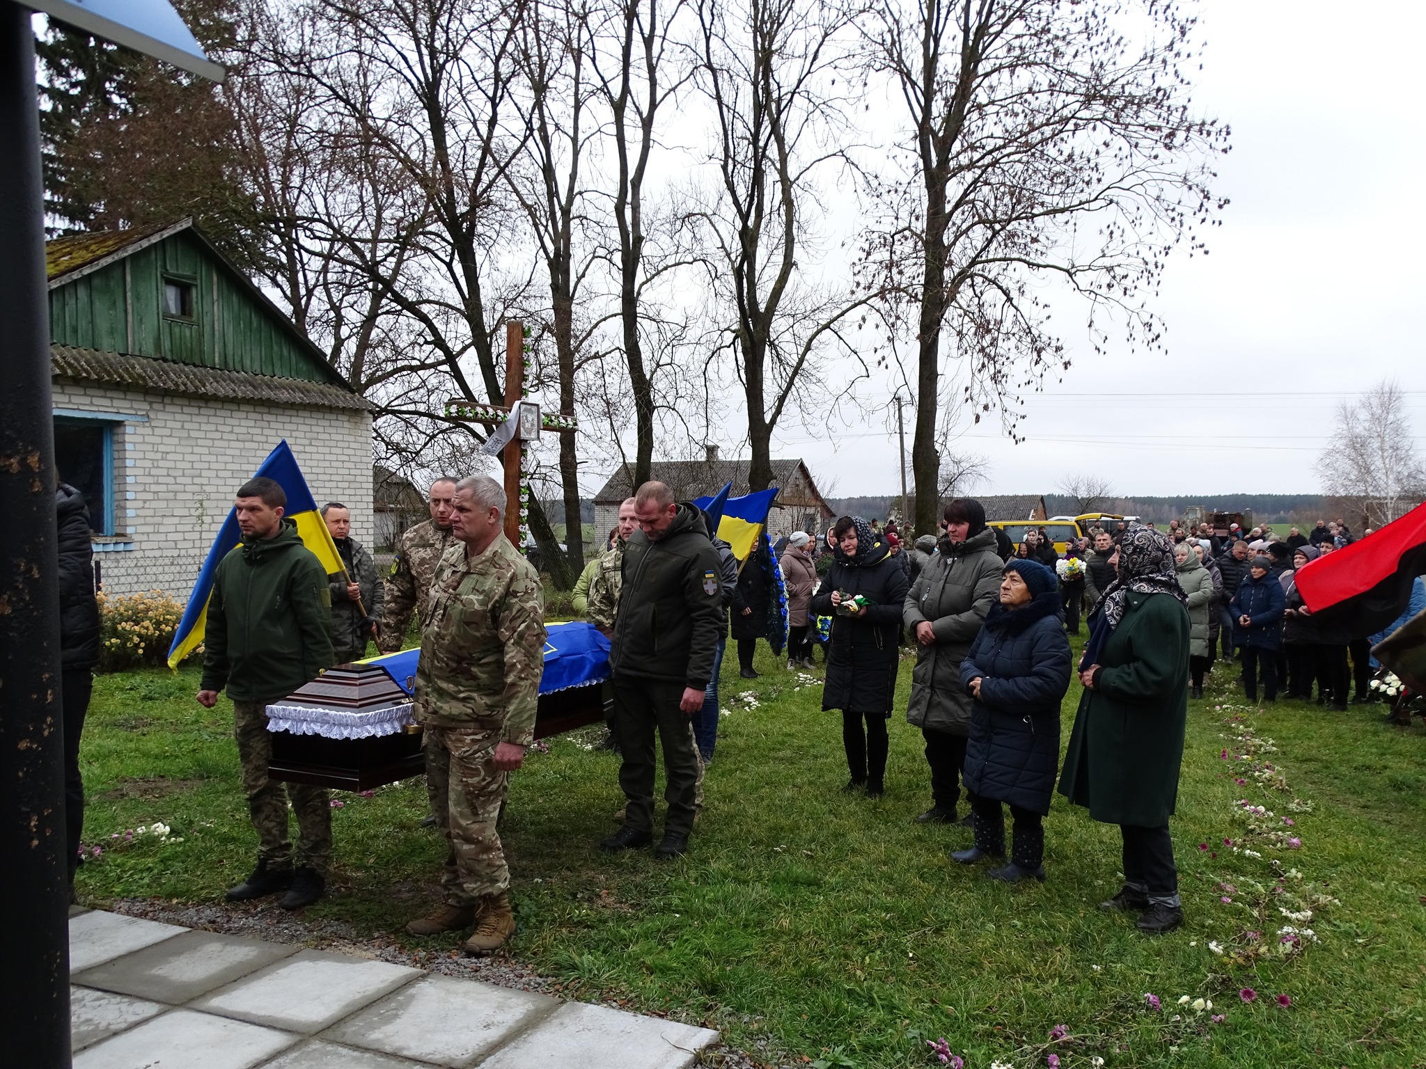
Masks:
[[[856,359],[846,329],[868,294],[809,281],[819,178],[848,164],[851,130],[840,0],[699,0],[699,84],[713,108],[717,204],[700,212],[716,261],[719,351],[730,352],[747,403],[749,486],[773,482],[779,420],[817,385],[831,346]],[[837,88],[841,76],[843,87]],[[934,479],[933,479],[934,483]]]

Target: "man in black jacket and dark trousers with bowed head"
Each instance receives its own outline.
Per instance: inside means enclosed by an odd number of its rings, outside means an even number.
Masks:
[[[722,566],[703,513],[676,503],[663,483],[639,487],[635,517],[639,530],[625,547],[609,650],[615,723],[623,747],[619,785],[627,805],[623,827],[600,845],[627,849],[653,841],[657,730],[669,815],[656,857],[673,858],[687,849],[693,831],[699,758],[689,717],[703,708],[724,627]]]

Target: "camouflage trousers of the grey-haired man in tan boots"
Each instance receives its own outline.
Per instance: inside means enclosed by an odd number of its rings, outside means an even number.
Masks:
[[[432,725],[426,725],[425,734],[426,783],[448,784],[442,831],[451,851],[441,872],[442,897],[451,905],[466,905],[508,891],[511,871],[495,831],[508,778],[495,767],[499,734],[476,727]]]

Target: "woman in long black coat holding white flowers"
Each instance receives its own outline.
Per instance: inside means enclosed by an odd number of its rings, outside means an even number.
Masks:
[[[851,780],[846,790],[883,791],[887,767],[887,720],[896,701],[897,639],[907,580],[860,516],[843,516],[833,527],[836,560],[811,599],[816,616],[831,617],[827,683],[821,707],[841,710],[841,744]],[[866,604],[840,610],[843,594]],[[863,730],[863,720],[866,728]]]

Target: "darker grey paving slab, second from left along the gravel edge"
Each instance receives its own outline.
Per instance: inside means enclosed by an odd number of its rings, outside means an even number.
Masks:
[[[76,974],[74,982],[181,1005],[298,949],[238,935],[184,932]]]

